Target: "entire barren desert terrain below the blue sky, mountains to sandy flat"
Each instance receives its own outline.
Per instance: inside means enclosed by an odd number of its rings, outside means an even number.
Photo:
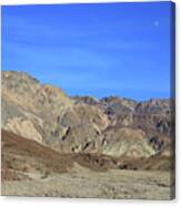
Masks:
[[[3,195],[174,196],[173,101],[68,96],[10,71],[1,96]]]

